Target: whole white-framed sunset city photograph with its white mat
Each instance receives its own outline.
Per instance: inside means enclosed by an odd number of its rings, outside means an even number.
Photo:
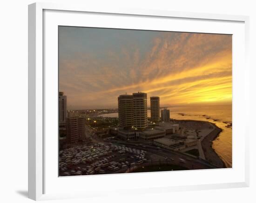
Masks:
[[[28,8],[29,198],[249,186],[249,17]]]

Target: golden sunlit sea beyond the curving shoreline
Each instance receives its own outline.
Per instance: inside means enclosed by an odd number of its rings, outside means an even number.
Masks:
[[[223,160],[226,167],[232,167],[232,127],[226,127],[232,123],[232,105],[186,105],[168,107],[170,117],[176,120],[209,121],[215,123],[222,132],[213,141],[213,149]],[[101,114],[102,117],[118,117],[118,113]],[[150,110],[148,110],[150,117]]]

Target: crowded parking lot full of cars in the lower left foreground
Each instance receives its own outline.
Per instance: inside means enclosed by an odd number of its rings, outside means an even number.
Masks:
[[[98,143],[60,151],[59,176],[122,173],[147,161],[145,150]]]

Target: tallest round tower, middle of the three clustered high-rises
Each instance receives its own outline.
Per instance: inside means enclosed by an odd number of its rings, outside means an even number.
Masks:
[[[133,93],[133,126],[138,130],[148,126],[146,93]]]

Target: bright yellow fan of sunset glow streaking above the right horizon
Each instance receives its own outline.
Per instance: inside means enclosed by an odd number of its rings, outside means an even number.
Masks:
[[[214,63],[195,67],[190,70],[184,70],[176,74],[169,74],[162,78],[156,78],[151,82],[146,81],[129,86],[108,89],[105,92],[136,92],[136,89],[140,89],[142,92],[156,95],[154,92],[166,89],[167,92],[165,94],[158,95],[161,98],[161,102],[165,104],[232,101],[231,66],[230,52]],[[224,71],[227,71],[228,76],[221,76],[221,73]],[[209,74],[215,74],[216,77],[208,78],[207,75]],[[186,80],[189,77],[194,78],[200,76],[202,78],[195,81],[178,83],[175,85],[171,84],[171,82],[178,80]],[[203,76],[206,77],[204,78]],[[168,91],[168,89],[172,90]]]

